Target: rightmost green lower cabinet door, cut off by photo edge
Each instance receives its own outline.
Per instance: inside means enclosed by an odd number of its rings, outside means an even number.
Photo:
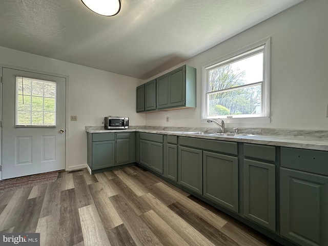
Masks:
[[[280,234],[300,245],[328,245],[328,177],[280,168]]]

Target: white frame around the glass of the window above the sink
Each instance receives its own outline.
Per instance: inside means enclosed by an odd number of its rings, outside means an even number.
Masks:
[[[237,51],[224,55],[218,59],[212,60],[201,67],[201,83],[202,83],[202,108],[201,122],[207,123],[208,119],[222,118],[227,124],[249,124],[249,123],[270,123],[270,53],[271,53],[271,37],[264,38],[251,45],[245,46]],[[262,113],[260,115],[244,115],[244,116],[207,116],[207,73],[210,68],[228,64],[237,57],[243,57],[248,52],[262,47],[263,48],[263,83],[262,83]],[[208,124],[208,123],[207,123]]]

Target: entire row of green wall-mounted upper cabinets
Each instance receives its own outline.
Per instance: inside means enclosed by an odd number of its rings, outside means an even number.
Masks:
[[[138,86],[136,93],[137,112],[195,108],[196,69],[182,66]]]

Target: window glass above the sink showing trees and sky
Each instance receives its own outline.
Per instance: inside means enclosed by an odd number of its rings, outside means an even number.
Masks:
[[[263,48],[207,69],[207,116],[262,113]]]

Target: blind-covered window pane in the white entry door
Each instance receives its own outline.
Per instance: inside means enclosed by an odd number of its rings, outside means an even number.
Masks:
[[[56,83],[16,76],[16,127],[56,126]]]

